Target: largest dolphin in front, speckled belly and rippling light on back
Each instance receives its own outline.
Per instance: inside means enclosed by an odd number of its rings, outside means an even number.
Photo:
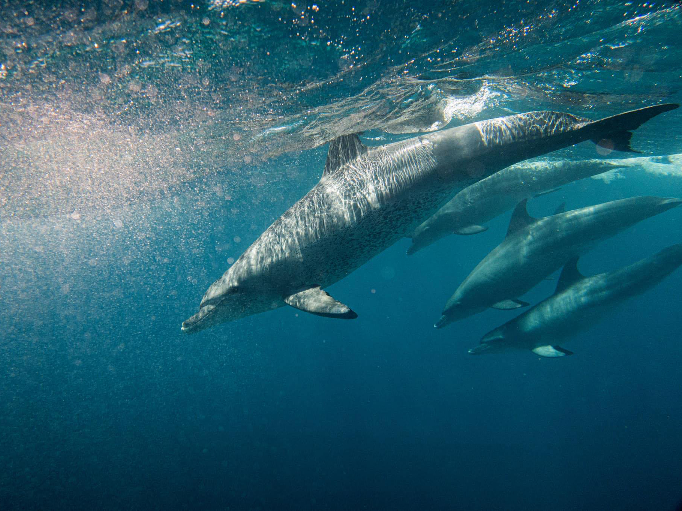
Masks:
[[[378,147],[354,135],[337,138],[320,181],[209,286],[182,330],[197,332],[284,305],[355,318],[323,288],[412,232],[460,189],[584,140],[632,151],[631,130],[678,107],[650,106],[599,121],[528,112]]]

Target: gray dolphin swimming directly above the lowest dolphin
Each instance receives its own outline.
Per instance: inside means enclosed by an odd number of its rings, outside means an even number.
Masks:
[[[518,300],[539,281],[599,241],[635,223],[682,204],[682,199],[632,197],[533,218],[522,200],[511,215],[507,237],[462,281],[447,300],[436,328],[488,307],[511,310],[529,305]]]

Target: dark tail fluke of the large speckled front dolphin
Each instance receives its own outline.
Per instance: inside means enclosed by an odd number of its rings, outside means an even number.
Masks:
[[[613,115],[612,117],[606,117],[599,121],[592,121],[587,123],[582,129],[593,131],[593,136],[590,136],[589,138],[599,146],[615,151],[638,153],[639,151],[634,151],[634,149],[630,147],[632,130],[637,129],[658,114],[669,112],[675,108],[679,108],[679,104],[666,103],[662,105],[647,106],[645,108],[639,108],[638,110],[631,110],[630,112]]]

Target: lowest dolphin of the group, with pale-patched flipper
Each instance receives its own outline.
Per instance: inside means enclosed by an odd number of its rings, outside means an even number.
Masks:
[[[574,259],[563,268],[552,296],[488,332],[469,353],[531,350],[545,357],[571,355],[559,343],[597,323],[627,298],[642,294],[670,275],[682,264],[682,244],[593,277],[580,275],[577,262]]]

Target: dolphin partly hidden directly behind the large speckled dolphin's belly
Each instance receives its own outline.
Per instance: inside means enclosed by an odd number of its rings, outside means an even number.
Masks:
[[[448,234],[477,234],[483,224],[514,208],[520,200],[542,195],[578,179],[625,167],[604,159],[523,161],[464,188],[412,234],[413,254]]]

